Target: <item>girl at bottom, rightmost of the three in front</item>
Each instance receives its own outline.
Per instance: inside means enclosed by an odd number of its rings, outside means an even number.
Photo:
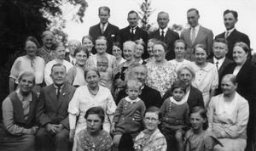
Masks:
[[[194,107],[190,112],[191,129],[186,132],[186,151],[210,151],[218,142],[218,139],[210,132],[206,131],[207,110],[202,106]]]

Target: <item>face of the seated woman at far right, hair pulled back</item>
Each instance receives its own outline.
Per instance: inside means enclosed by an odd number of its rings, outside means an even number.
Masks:
[[[221,89],[224,95],[230,95],[236,92],[236,87],[236,84],[230,81],[229,77],[224,77],[223,80],[221,81]]]

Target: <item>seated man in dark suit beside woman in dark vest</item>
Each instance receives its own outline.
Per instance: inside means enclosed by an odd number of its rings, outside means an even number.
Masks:
[[[64,82],[66,75],[63,64],[53,65],[50,76],[54,83],[43,87],[39,95],[37,121],[41,128],[36,136],[39,150],[69,150],[67,108],[75,87]]]

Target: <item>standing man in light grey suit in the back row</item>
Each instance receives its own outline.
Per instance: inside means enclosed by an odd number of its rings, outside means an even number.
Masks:
[[[198,43],[207,46],[207,55],[212,54],[213,33],[211,30],[198,23],[199,18],[200,15],[198,10],[196,8],[190,8],[187,11],[187,19],[190,28],[183,30],[180,35],[180,38],[183,39],[187,45],[184,58],[189,59],[190,61],[194,61],[194,47]]]

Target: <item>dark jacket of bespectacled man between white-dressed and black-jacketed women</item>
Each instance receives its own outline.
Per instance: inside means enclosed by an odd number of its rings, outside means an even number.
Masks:
[[[208,59],[208,62],[214,64],[213,58]],[[223,64],[222,64],[220,67],[218,67],[218,88],[217,88],[217,90],[216,90],[216,94],[215,94],[215,95],[218,95],[218,94],[222,93],[222,90],[221,90],[221,77],[220,77],[220,76],[223,75],[223,71],[225,70],[225,68],[226,68],[229,64],[232,64],[232,63],[233,63],[233,61],[230,60],[230,59],[228,59],[228,58],[226,57],[226,58],[224,59]]]

